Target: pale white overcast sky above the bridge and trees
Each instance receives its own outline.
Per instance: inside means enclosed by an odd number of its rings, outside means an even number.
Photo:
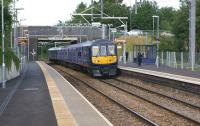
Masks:
[[[138,0],[139,1],[139,0]],[[179,0],[155,0],[159,7],[179,7]],[[17,8],[24,8],[18,14],[22,25],[56,25],[58,20],[66,21],[80,2],[89,5],[91,0],[19,0]],[[130,6],[135,0],[124,0]]]

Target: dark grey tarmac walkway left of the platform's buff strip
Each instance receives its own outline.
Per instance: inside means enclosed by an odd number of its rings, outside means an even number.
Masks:
[[[57,126],[47,84],[35,62],[26,65],[24,76],[13,80],[19,83],[13,97],[0,116],[0,126]],[[9,82],[8,82],[9,83]],[[9,86],[9,85],[8,85]],[[8,89],[1,89],[0,92]],[[2,103],[2,102],[1,102]]]

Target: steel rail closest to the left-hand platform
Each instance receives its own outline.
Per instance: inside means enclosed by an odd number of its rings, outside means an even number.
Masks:
[[[56,67],[57,69],[59,69],[60,71],[64,72],[65,74],[68,75],[68,77],[70,77],[72,80],[78,80],[80,81],[82,84],[87,85],[89,88],[95,90],[96,92],[100,93],[101,95],[105,96],[106,98],[108,98],[109,100],[111,100],[112,102],[114,102],[115,104],[119,105],[120,107],[124,108],[125,110],[127,110],[128,112],[130,112],[131,114],[139,117],[142,121],[144,121],[145,124],[149,125],[149,126],[159,126],[158,124],[154,123],[153,121],[149,120],[148,118],[144,117],[143,115],[139,114],[138,112],[134,111],[133,109],[124,106],[123,104],[121,104],[120,102],[116,101],[115,99],[113,99],[112,97],[104,94],[102,91],[100,91],[99,89],[96,89],[94,87],[92,87],[91,85],[87,84],[86,82],[84,82],[83,80],[79,79],[78,77],[74,77],[71,74],[67,73],[66,71]]]

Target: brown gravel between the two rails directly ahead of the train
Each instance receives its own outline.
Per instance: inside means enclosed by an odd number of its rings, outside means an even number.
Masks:
[[[126,79],[126,81],[127,80],[128,79]],[[159,94],[147,91],[148,89],[144,90],[144,89],[141,89],[138,87],[130,86],[126,83],[121,83],[121,82],[113,80],[113,79],[106,80],[106,81],[113,85],[116,85],[117,87],[125,89],[130,93],[133,93],[139,97],[142,97],[142,98],[146,99],[147,101],[150,101],[150,102],[155,103],[159,106],[162,106],[166,109],[172,110],[183,116],[191,118],[192,120],[194,119],[194,120],[200,122],[200,109],[199,108],[191,107],[188,104],[179,102],[172,98],[165,97],[162,94],[159,95]],[[135,83],[135,82],[132,82],[132,83]]]

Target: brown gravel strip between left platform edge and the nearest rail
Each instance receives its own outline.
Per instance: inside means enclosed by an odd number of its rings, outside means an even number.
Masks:
[[[58,69],[56,69],[58,70]],[[138,117],[113,103],[88,86],[73,80],[58,70],[76,89],[78,89],[114,126],[146,126]],[[71,72],[71,71],[70,71]],[[75,74],[75,73],[74,73]]]

